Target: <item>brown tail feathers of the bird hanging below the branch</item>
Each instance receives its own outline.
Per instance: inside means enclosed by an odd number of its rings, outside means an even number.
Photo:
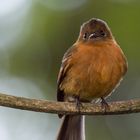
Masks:
[[[66,115],[57,140],[85,140],[84,116]]]

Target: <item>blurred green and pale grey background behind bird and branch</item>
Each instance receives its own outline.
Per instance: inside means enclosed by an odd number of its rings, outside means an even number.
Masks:
[[[111,100],[139,98],[139,0],[0,0],[0,92],[56,100],[64,52],[80,25],[105,20],[125,52],[129,70]],[[1,140],[55,140],[61,120],[0,107]],[[86,117],[87,140],[139,140],[140,114]]]

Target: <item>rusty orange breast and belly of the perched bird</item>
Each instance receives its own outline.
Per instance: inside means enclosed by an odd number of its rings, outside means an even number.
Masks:
[[[118,48],[81,47],[73,56],[73,66],[64,80],[65,93],[80,96],[81,100],[107,96],[122,78],[125,65],[122,55]]]

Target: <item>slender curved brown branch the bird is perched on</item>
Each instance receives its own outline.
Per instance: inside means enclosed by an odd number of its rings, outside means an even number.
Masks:
[[[104,111],[100,104],[82,103],[80,114],[117,115],[140,112],[140,100],[117,101],[108,103]],[[74,103],[29,99],[0,93],[0,106],[54,114],[79,114]]]

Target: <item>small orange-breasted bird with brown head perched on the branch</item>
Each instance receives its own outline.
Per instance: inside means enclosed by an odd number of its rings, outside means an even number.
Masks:
[[[84,22],[77,41],[63,56],[57,80],[57,101],[82,102],[101,99],[116,89],[128,63],[107,23],[98,18]],[[62,115],[57,140],[85,140],[83,115]]]

